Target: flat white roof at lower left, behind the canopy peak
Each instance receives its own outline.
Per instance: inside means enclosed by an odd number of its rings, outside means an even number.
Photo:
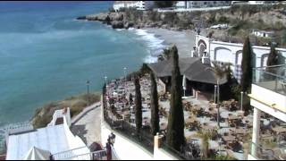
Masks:
[[[10,135],[6,159],[21,160],[32,147],[50,151],[51,154],[70,150],[63,124]]]

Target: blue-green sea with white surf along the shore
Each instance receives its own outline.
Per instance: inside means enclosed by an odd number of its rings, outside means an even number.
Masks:
[[[0,126],[29,121],[51,101],[98,91],[163,47],[146,30],[113,30],[76,17],[113,2],[0,2]]]

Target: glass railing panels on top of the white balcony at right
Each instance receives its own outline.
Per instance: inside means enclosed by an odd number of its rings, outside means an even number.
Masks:
[[[252,82],[286,96],[286,65],[255,68]]]

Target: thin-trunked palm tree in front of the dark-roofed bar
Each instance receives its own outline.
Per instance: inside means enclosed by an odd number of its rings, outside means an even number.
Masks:
[[[230,63],[226,64],[218,64],[217,62],[213,62],[213,68],[206,68],[206,70],[211,70],[214,72],[216,78],[216,86],[217,86],[217,126],[220,128],[220,81],[225,78],[225,76],[230,72]],[[215,103],[215,102],[214,102]]]

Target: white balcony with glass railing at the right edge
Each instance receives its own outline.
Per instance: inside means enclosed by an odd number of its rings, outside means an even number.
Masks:
[[[286,114],[286,65],[255,68],[251,87],[252,106],[258,103],[265,108]],[[266,107],[267,106],[267,107]],[[261,107],[264,108],[264,107]],[[266,113],[270,110],[260,109]]]

